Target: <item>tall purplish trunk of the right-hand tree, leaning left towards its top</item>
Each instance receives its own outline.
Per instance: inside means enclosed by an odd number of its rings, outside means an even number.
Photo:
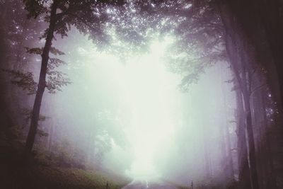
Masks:
[[[238,84],[243,94],[243,104],[246,110],[246,130],[248,134],[248,158],[250,163],[250,181],[253,189],[258,189],[258,172],[255,161],[255,142],[253,136],[253,125],[250,110],[250,75],[247,77],[247,67],[250,69],[253,62],[249,57],[249,45],[245,35],[239,28],[238,23],[231,16],[229,6],[221,2],[219,4],[221,18],[226,30],[226,51],[231,62],[231,67],[235,73]],[[248,52],[246,52],[248,51]],[[248,82],[247,82],[248,81]]]

